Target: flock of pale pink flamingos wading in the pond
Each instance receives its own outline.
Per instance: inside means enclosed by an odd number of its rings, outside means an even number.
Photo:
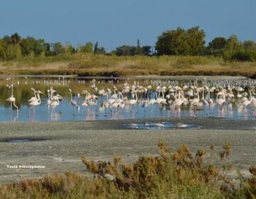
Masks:
[[[169,82],[169,83],[168,83]],[[90,92],[83,90],[81,94],[73,95],[70,92],[70,104],[76,109],[80,107],[92,107],[97,105],[98,97],[102,97],[99,104],[99,111],[105,109],[117,111],[119,109],[128,109],[135,104],[144,108],[152,104],[159,104],[159,107],[173,109],[174,113],[180,112],[181,107],[190,107],[191,110],[203,107],[219,107],[220,111],[232,110],[235,107],[238,110],[247,110],[250,107],[250,114],[256,116],[256,92],[255,81],[250,82],[229,82],[229,81],[206,81],[198,82],[197,80],[183,82],[167,80],[146,80],[144,86],[139,85],[139,81],[129,84],[125,81],[122,88],[117,89],[116,85],[111,84],[106,89],[98,89],[100,81],[91,81]],[[16,108],[16,99],[14,97],[14,85],[9,85],[11,96],[6,99],[11,102],[11,106]],[[31,87],[33,97],[28,100],[31,109],[41,104],[40,90]],[[53,87],[47,90],[48,99],[47,107],[57,107],[63,99]]]

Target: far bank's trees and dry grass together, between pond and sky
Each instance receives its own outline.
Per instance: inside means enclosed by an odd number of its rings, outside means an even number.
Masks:
[[[99,43],[63,45],[18,33],[0,38],[0,74],[19,75],[245,75],[256,77],[256,43],[213,38],[198,26],[161,33],[155,46],[122,45],[115,49]]]

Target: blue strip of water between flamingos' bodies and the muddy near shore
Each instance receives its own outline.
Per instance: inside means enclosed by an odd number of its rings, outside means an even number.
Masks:
[[[99,97],[97,105],[92,107],[82,107],[76,109],[68,98],[64,98],[58,107],[52,108],[46,106],[46,99],[34,109],[22,104],[19,111],[11,107],[0,105],[1,122],[51,122],[51,121],[86,121],[86,120],[104,120],[104,119],[142,119],[142,118],[160,118],[160,117],[219,117],[227,119],[252,119],[255,115],[251,114],[250,106],[239,110],[233,107],[233,111],[223,107],[222,110],[215,107],[202,107],[201,109],[191,109],[181,107],[180,111],[169,107],[162,107],[159,104],[152,104],[148,107],[142,107],[142,104],[130,106],[127,104],[124,109],[105,108],[100,110],[101,102],[105,97]],[[77,100],[78,101],[78,100]],[[25,103],[25,102],[24,102]]]

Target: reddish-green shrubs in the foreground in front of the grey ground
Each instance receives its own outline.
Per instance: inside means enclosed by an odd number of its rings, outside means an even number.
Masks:
[[[114,157],[112,162],[82,162],[94,178],[78,173],[47,175],[41,180],[23,180],[2,185],[1,198],[255,198],[256,166],[250,167],[250,178],[240,176],[240,185],[225,176],[229,166],[225,158],[230,145],[221,151],[210,146],[209,154],[199,149],[195,155],[186,145],[176,152],[162,142],[159,156],[140,156],[132,164]],[[205,158],[218,157],[218,166]]]

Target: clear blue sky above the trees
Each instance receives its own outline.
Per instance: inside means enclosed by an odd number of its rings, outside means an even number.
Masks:
[[[255,0],[1,0],[0,38],[18,33],[72,45],[154,45],[164,31],[199,26],[206,44],[232,34],[256,41]]]

